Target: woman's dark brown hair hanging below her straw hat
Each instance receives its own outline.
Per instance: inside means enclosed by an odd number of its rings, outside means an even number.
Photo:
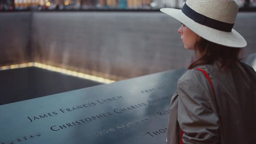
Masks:
[[[195,44],[196,58],[192,58],[188,69],[193,69],[198,65],[213,64],[215,60],[221,63],[220,69],[223,67],[230,68],[242,60],[239,58],[240,52],[242,52],[240,48],[222,46],[200,37],[200,40]]]

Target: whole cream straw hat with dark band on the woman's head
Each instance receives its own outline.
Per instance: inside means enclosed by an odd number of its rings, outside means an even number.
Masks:
[[[233,29],[238,10],[235,0],[187,0],[181,10],[162,8],[161,12],[210,42],[243,48],[246,40]]]

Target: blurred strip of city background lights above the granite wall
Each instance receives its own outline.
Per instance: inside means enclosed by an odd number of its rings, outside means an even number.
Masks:
[[[0,10],[158,10],[181,8],[186,0],[0,0]],[[49,2],[49,3],[48,3]],[[237,0],[239,7],[255,7],[256,0]]]

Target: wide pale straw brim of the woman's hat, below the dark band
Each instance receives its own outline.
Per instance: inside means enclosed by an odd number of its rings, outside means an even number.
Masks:
[[[246,40],[243,38],[243,36],[237,33],[235,29],[232,29],[231,32],[223,32],[191,20],[184,13],[182,13],[181,10],[173,8],[162,8],[160,10],[161,12],[179,20],[181,23],[184,23],[184,25],[190,28],[194,33],[210,42],[234,48],[243,48],[247,46]]]

